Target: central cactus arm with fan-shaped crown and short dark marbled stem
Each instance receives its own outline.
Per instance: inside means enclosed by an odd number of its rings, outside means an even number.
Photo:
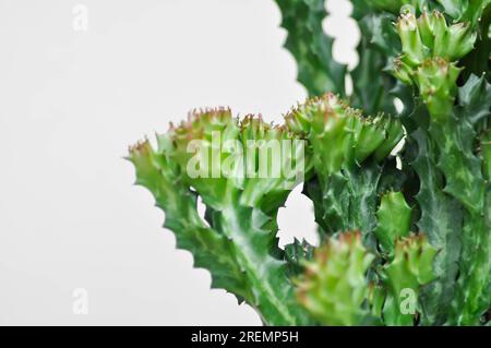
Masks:
[[[361,229],[367,237],[375,227],[383,171],[376,159],[385,160],[403,137],[400,122],[384,115],[364,118],[333,94],[309,99],[285,119],[294,133],[310,141],[316,179],[306,191],[321,226],[330,233]]]

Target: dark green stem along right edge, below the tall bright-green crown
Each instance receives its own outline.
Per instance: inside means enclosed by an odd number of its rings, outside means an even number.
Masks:
[[[454,316],[458,324],[476,325],[488,310],[487,289],[491,279],[491,226],[486,209],[487,182],[482,163],[472,153],[476,133],[466,120],[453,117],[432,124],[430,134],[439,146],[439,168],[446,178],[445,192],[464,207],[463,251]]]

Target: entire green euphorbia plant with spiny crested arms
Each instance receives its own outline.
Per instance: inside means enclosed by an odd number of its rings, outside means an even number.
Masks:
[[[489,324],[491,0],[354,0],[349,72],[323,0],[277,3],[311,96],[284,124],[206,109],[130,148],[178,248],[267,325]],[[277,243],[296,184],[316,248]]]

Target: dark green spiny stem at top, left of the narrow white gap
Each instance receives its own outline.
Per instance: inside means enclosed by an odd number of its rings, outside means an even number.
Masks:
[[[327,91],[345,94],[346,65],[332,56],[333,38],[322,28],[324,0],[275,0],[282,26],[288,32],[285,48],[297,60],[298,81],[310,96]]]

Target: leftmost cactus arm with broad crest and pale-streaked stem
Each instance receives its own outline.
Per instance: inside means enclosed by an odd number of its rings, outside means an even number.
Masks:
[[[276,243],[275,224],[271,224],[286,199],[288,191],[283,184],[288,183],[287,179],[215,178],[206,170],[217,168],[216,164],[205,168],[197,166],[200,176],[190,175],[193,158],[201,159],[196,161],[199,165],[204,164],[203,158],[216,159],[221,168],[227,161],[238,159],[237,167],[242,168],[243,159],[238,152],[212,156],[218,149],[214,132],[218,132],[224,142],[242,144],[255,137],[288,137],[284,129],[273,128],[259,118],[249,117],[239,123],[228,109],[193,112],[187,122],[158,136],[157,151],[148,142],[130,148],[129,158],[136,167],[136,183],[154,194],[157,205],[166,212],[165,227],[176,233],[179,248],[193,252],[197,266],[211,271],[213,286],[223,287],[255,307],[265,324],[306,324],[286,274],[283,251]],[[193,141],[201,141],[200,147],[189,153]],[[209,209],[209,227],[196,213],[194,191]],[[267,209],[262,208],[264,203]]]

